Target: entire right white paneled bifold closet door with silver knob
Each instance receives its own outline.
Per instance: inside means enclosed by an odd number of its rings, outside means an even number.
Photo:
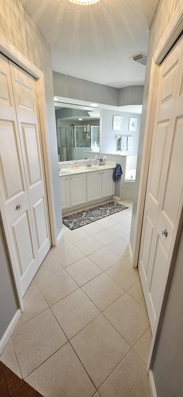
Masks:
[[[160,66],[139,274],[153,332],[183,202],[183,37]],[[168,231],[166,237],[165,231]]]

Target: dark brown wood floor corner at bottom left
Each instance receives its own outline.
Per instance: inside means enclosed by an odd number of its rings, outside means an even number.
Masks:
[[[41,397],[42,395],[0,361],[0,396]]]

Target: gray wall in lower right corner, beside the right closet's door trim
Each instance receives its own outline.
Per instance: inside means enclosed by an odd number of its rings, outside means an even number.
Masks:
[[[157,397],[183,396],[183,229],[152,369]]]

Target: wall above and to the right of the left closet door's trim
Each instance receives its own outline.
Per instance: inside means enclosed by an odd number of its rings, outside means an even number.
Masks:
[[[50,44],[19,0],[0,1],[0,33],[44,73],[57,235],[62,229]]]

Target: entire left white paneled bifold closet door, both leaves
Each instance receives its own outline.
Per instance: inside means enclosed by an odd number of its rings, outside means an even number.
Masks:
[[[0,191],[22,296],[51,246],[36,81],[0,54]]]

